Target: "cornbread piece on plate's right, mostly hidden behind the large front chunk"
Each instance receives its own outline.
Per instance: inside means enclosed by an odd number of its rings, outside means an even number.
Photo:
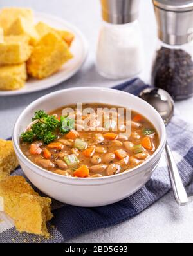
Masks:
[[[45,36],[46,34],[48,34],[49,32],[57,33],[69,45],[69,47],[71,46],[71,43],[73,42],[73,39],[75,38],[75,36],[73,34],[71,34],[71,32],[51,28],[50,26],[48,26],[46,23],[43,23],[42,21],[37,23],[35,28],[41,38],[43,36]]]

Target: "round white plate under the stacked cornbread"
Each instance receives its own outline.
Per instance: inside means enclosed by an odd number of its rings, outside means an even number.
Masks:
[[[88,45],[86,38],[78,28],[74,27],[67,21],[51,16],[50,14],[35,12],[35,22],[37,23],[38,21],[43,21],[54,28],[69,30],[75,35],[75,40],[71,45],[71,52],[73,53],[74,58],[64,64],[56,74],[53,74],[48,78],[44,78],[43,80],[30,78],[23,89],[17,91],[0,91],[0,96],[12,96],[37,92],[58,85],[75,75],[86,60]]]

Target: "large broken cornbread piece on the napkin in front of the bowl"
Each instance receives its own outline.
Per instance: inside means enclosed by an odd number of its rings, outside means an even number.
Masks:
[[[21,232],[49,237],[46,222],[53,217],[51,199],[40,197],[22,176],[10,176],[0,182],[3,208]]]

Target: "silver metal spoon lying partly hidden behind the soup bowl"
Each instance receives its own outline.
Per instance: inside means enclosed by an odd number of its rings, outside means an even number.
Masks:
[[[174,114],[174,101],[168,92],[158,88],[147,88],[140,93],[140,98],[147,101],[160,113],[165,125],[170,122]],[[168,143],[165,145],[165,151],[167,153],[170,180],[176,202],[178,202],[180,206],[185,206],[188,203],[187,192],[183,186],[178,167]]]

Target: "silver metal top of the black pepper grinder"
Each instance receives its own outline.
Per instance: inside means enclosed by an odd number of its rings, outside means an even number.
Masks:
[[[152,0],[158,22],[158,36],[169,45],[192,41],[193,1]]]

